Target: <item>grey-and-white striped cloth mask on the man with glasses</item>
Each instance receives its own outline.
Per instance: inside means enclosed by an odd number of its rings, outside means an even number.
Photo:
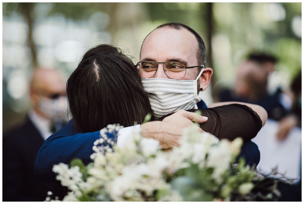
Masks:
[[[148,94],[154,117],[158,119],[180,109],[192,109],[201,100],[197,94],[197,80],[203,71],[204,69],[195,80],[141,79],[143,88]]]

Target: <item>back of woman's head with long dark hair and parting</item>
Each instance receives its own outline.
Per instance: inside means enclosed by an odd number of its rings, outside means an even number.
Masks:
[[[110,45],[85,53],[67,81],[67,97],[77,132],[140,124],[152,112],[132,61]]]

